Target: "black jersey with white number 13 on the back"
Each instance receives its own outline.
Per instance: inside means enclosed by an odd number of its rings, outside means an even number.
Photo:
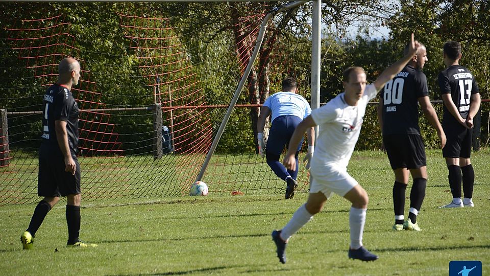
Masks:
[[[467,68],[458,64],[449,66],[446,70],[440,72],[437,80],[440,94],[451,94],[451,99],[456,105],[459,114],[463,119],[466,119],[470,111],[471,95],[478,93],[478,84],[473,74]],[[443,123],[459,124],[446,105],[444,105]]]

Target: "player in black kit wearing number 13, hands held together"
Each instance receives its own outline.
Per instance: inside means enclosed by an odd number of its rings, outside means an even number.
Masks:
[[[448,144],[443,156],[449,170],[451,203],[441,208],[473,207],[475,172],[470,161],[473,118],[480,109],[478,84],[467,68],[459,65],[461,44],[448,41],[443,48],[446,69],[439,73],[440,94],[444,102],[443,128]],[[461,181],[464,199],[461,200]]]

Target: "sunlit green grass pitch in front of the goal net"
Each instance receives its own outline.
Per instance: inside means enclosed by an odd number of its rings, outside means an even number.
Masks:
[[[488,275],[490,151],[474,153],[472,163],[475,207],[438,209],[451,199],[447,168],[440,151],[428,151],[429,181],[418,219],[423,231],[395,233],[393,173],[386,156],[354,152],[349,172],[370,195],[364,245],[380,256],[376,262],[347,258],[350,204],[338,196],[291,238],[283,265],[270,234],[287,223],[307,193],[292,200],[281,193],[88,202],[82,195],[81,238],[99,247],[65,247],[61,203],[36,234],[35,249],[22,250],[19,237],[35,204],[5,205],[0,207],[0,274],[448,275],[452,260],[479,260]],[[406,210],[408,205],[407,200]]]

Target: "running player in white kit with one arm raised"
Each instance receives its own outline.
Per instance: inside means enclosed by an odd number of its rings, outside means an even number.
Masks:
[[[277,257],[286,262],[285,249],[288,239],[299,231],[313,215],[320,212],[333,193],[352,203],[349,214],[351,243],[349,258],[374,261],[378,256],[362,246],[362,233],[366,218],[366,191],[347,173],[347,165],[359,137],[367,102],[375,98],[384,84],[393,79],[410,61],[420,47],[413,34],[408,54],[386,68],[378,79],[366,85],[366,74],[362,67],[349,67],[344,71],[345,92],[340,93],[325,106],[314,109],[303,120],[289,141],[288,152],[283,164],[287,169],[296,167],[295,152],[305,131],[320,125],[315,153],[311,159],[311,187],[307,202],[293,214],[281,230],[275,230],[272,238],[277,247]]]

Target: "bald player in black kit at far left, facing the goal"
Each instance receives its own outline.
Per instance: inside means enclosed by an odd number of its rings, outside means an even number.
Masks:
[[[58,68],[58,81],[46,90],[43,97],[38,195],[44,198],[37,204],[29,227],[20,236],[24,249],[33,248],[37,230],[60,196],[67,197],[67,246],[97,246],[79,240],[80,165],[76,155],[79,109],[70,89],[78,84],[80,63],[74,58],[64,58]]]

